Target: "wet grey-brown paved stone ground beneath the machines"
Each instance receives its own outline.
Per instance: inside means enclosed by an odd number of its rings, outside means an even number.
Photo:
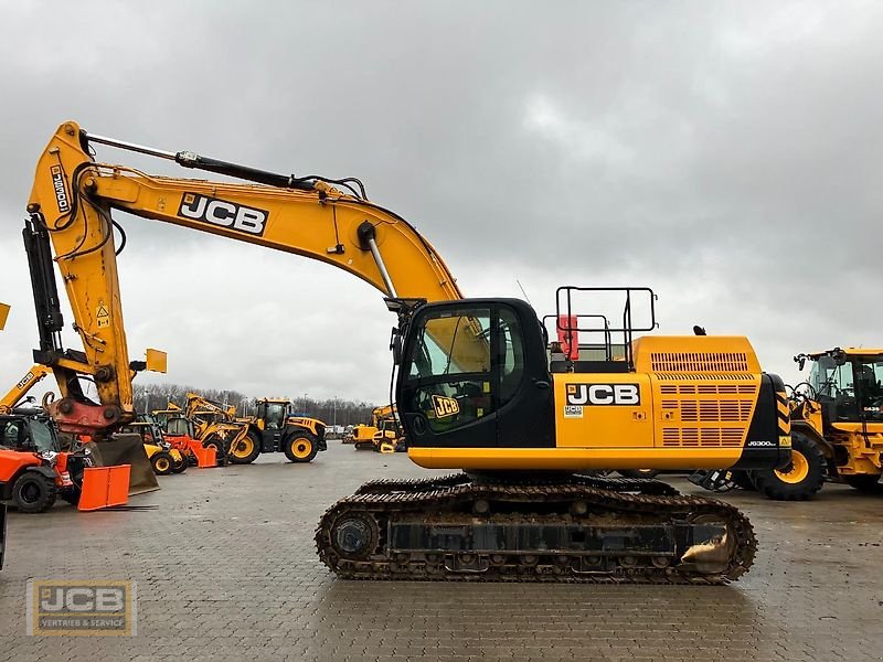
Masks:
[[[323,510],[368,479],[425,476],[332,441],[190,469],[135,498],[152,511],[12,513],[0,662],[31,660],[883,660],[883,494],[728,493],[762,547],[728,587],[349,583],[317,559]],[[672,482],[694,491],[682,479]],[[25,636],[29,578],[138,583],[135,638]]]

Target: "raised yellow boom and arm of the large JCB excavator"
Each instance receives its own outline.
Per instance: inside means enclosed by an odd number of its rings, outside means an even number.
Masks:
[[[259,183],[152,177],[96,163],[89,156],[91,142]],[[118,226],[111,209],[318,259],[387,297],[461,298],[446,265],[414,226],[366,200],[349,180],[341,182],[351,194],[318,178],[297,179],[91,136],[73,121],[58,127],[38,162],[28,211],[35,231],[44,228],[51,238],[83,341],[81,363],[92,367],[107,425],[134,415],[116,261],[121,246],[115,241]],[[384,254],[395,255],[395,260],[385,263]],[[38,281],[49,275],[44,268],[32,277],[38,291]],[[42,314],[47,323],[54,321],[50,312]],[[53,331],[58,329],[55,323]]]

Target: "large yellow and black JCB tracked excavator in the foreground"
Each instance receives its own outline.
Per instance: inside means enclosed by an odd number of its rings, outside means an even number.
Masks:
[[[153,177],[96,162],[99,145],[254,183]],[[26,232],[54,254],[94,366],[102,406],[81,414],[84,425],[107,430],[134,415],[113,210],[334,265],[397,314],[395,403],[408,457],[466,472],[373,481],[332,505],[316,541],[339,576],[720,584],[752,565],[755,536],[734,506],[655,480],[583,473],[787,463],[788,426],[776,416],[784,385],[747,339],[635,338],[656,324],[632,322],[636,297],[648,296],[652,312],[655,296],[620,288],[623,321],[610,332],[623,337],[624,360],[550,365],[526,302],[464,299],[432,245],[369,201],[359,180],[157,150],[67,121],[38,162]],[[561,289],[558,318],[578,321],[577,291]]]

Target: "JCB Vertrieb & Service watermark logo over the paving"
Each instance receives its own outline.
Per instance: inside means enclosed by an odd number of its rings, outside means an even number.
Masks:
[[[31,579],[28,634],[137,634],[135,581]]]

